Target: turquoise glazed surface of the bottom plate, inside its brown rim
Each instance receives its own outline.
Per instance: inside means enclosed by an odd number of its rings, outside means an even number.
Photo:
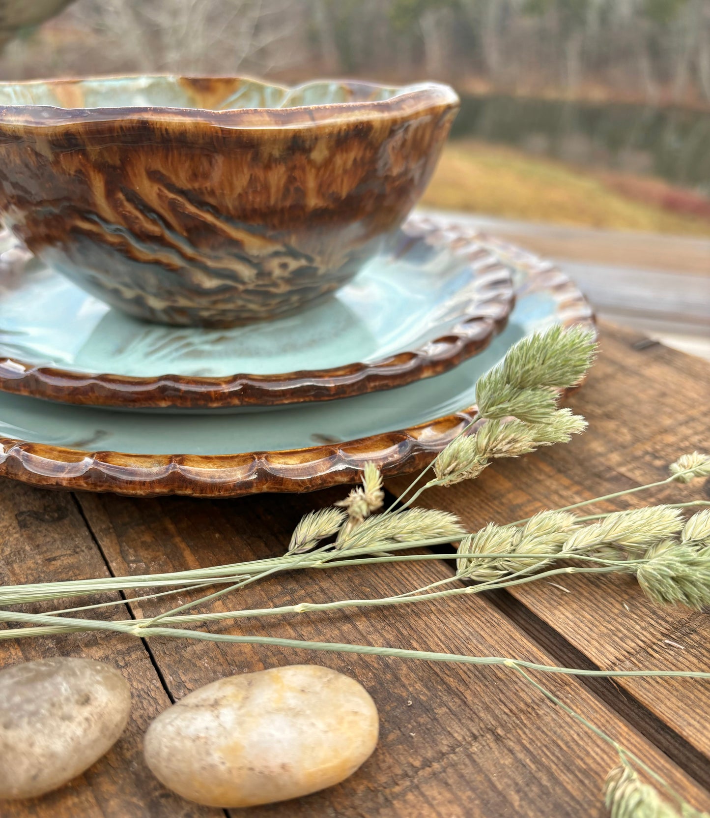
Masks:
[[[476,380],[511,344],[559,314],[551,291],[521,294],[483,353],[401,389],[244,415],[149,415],[69,407],[0,393],[0,435],[87,451],[220,455],[351,440],[448,415],[475,402]]]

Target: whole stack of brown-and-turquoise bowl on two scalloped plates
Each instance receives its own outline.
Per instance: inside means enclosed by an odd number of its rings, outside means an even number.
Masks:
[[[424,465],[555,267],[408,214],[451,88],[0,83],[0,474],[238,496]]]

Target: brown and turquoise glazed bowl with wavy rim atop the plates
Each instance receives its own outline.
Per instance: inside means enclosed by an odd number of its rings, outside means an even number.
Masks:
[[[377,253],[457,110],[437,83],[0,83],[0,213],[43,262],[133,316],[267,319]]]

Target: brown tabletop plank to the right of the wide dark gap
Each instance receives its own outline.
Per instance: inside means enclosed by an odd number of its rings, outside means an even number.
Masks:
[[[511,522],[542,508],[664,479],[669,463],[683,452],[710,450],[710,366],[658,345],[638,350],[638,337],[604,327],[601,359],[569,402],[589,420],[587,434],[518,462],[498,461],[474,483],[423,496],[422,505],[455,511],[476,530],[489,520]],[[398,490],[407,481],[392,483]],[[586,513],[708,497],[708,485],[673,485],[591,506]],[[599,667],[708,668],[707,614],[653,606],[628,577],[565,577],[558,585],[569,593],[545,582],[510,593]],[[524,620],[520,624],[525,627]],[[710,732],[698,718],[710,708],[710,686],[641,679],[618,685],[710,755]]]

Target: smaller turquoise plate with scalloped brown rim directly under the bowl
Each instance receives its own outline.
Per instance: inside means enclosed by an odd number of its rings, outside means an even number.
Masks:
[[[479,353],[512,301],[510,267],[422,218],[324,303],[225,330],[136,320],[11,249],[0,256],[0,389],[172,411],[351,397]]]

